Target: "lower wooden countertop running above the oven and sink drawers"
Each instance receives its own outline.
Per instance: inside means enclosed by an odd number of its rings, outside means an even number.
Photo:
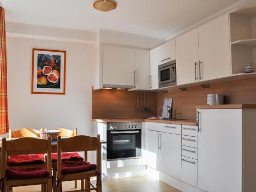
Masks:
[[[165,119],[92,119],[92,121],[100,123],[108,122],[155,122],[155,123],[167,123],[167,124],[183,124],[183,125],[194,125],[197,126],[196,120],[193,119],[174,119],[174,120],[165,120]]]

